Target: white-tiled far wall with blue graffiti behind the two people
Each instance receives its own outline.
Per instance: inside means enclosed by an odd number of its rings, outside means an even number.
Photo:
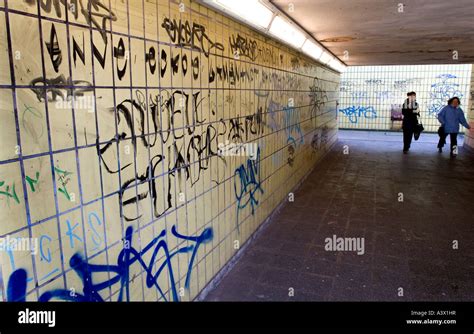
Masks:
[[[406,93],[415,91],[425,130],[436,132],[436,114],[449,98],[458,96],[467,112],[470,81],[471,65],[351,66],[341,79],[339,127],[399,130],[391,111],[401,112]]]

